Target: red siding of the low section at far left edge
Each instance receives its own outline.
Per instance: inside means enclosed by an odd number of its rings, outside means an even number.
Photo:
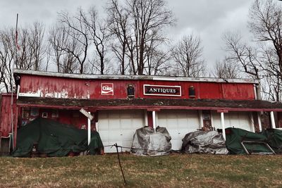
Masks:
[[[13,97],[13,122],[16,125],[16,95]],[[11,94],[1,94],[0,132],[7,137],[12,132],[11,126]]]

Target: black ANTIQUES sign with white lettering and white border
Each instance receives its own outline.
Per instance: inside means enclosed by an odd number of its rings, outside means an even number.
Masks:
[[[181,96],[181,86],[143,85],[144,95]]]

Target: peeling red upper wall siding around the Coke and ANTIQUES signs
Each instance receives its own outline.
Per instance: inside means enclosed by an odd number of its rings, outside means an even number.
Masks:
[[[168,99],[255,99],[252,83],[184,82],[161,80],[82,80],[67,77],[22,75],[20,93],[39,94],[41,97],[76,99],[126,99],[128,84],[135,87],[135,97]],[[102,95],[101,84],[113,83],[114,95]],[[181,96],[148,96],[143,84],[181,86]],[[188,96],[188,88],[195,87],[195,97]]]

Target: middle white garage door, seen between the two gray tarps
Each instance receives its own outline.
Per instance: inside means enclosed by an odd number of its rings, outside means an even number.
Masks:
[[[159,111],[157,125],[166,127],[169,134],[171,134],[172,149],[180,150],[185,134],[200,128],[198,117],[197,111]]]

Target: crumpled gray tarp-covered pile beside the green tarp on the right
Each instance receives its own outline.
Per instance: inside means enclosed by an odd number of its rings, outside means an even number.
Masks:
[[[182,142],[182,151],[185,153],[228,153],[222,134],[216,131],[190,132],[185,135]]]

